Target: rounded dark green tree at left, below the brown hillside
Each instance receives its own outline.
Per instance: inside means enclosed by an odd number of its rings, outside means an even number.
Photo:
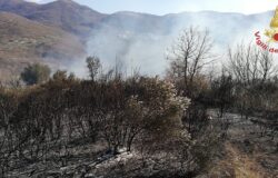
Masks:
[[[51,70],[47,65],[28,65],[21,72],[21,79],[29,86],[47,81]]]

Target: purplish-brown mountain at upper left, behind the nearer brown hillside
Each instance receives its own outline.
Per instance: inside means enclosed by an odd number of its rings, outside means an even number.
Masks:
[[[47,26],[54,26],[77,36],[87,37],[106,14],[71,0],[37,4],[23,0],[0,0],[0,11],[8,11]]]

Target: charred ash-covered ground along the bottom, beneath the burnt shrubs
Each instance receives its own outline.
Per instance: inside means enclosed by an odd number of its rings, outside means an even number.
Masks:
[[[214,116],[211,122],[218,122]],[[255,118],[241,119],[239,115],[226,113],[221,121],[229,122],[224,148],[215,155],[214,161],[202,172],[186,175],[198,178],[277,178],[278,137],[271,129],[255,123]],[[185,177],[176,171],[178,162],[169,152],[152,155],[140,150],[125,149],[113,155],[106,150],[106,144],[90,140],[76,140],[62,145],[57,157],[41,162],[22,162],[9,174],[11,178],[106,178],[106,177]],[[167,159],[166,159],[167,158]],[[166,161],[167,160],[167,161]],[[166,169],[167,168],[167,169]]]

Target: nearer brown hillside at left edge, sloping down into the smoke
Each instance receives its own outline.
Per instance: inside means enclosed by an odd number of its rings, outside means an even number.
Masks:
[[[0,76],[34,61],[59,63],[85,53],[79,40],[60,29],[0,12]]]

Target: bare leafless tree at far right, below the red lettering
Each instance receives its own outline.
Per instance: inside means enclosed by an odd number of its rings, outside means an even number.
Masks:
[[[248,119],[255,108],[265,105],[267,82],[277,75],[277,66],[270,53],[252,44],[239,44],[235,50],[229,50],[228,57],[228,69],[237,83],[238,106],[241,116],[245,115]]]

